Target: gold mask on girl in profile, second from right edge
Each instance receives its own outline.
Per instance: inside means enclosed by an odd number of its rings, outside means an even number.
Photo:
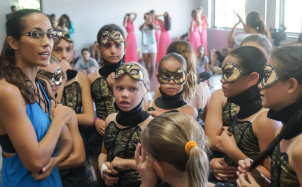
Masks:
[[[222,67],[222,78],[225,82],[235,82],[243,74],[249,73],[242,73],[241,69],[232,62],[229,62]]]

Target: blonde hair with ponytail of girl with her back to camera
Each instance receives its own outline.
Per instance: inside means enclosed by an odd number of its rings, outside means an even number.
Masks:
[[[159,162],[167,162],[187,171],[189,186],[206,186],[209,143],[199,123],[183,113],[166,113],[154,118],[140,134],[146,154]],[[187,142],[198,146],[186,153]]]

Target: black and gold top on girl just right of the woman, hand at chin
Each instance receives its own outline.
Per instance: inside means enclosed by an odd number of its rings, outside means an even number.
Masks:
[[[82,113],[82,90],[78,82],[78,74],[74,82],[64,87],[61,104],[70,107],[75,114]]]

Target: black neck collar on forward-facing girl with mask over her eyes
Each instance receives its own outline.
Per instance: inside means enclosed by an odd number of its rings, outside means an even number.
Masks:
[[[166,93],[162,91],[161,88],[160,88],[160,92],[162,94],[162,97],[157,98],[154,102],[155,105],[158,106],[159,108],[165,110],[171,110],[186,105],[186,102],[184,102],[182,98],[182,93],[184,92],[184,90],[182,90],[181,92],[177,93],[174,96],[168,96]]]

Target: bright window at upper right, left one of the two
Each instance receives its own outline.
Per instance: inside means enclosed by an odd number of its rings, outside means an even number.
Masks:
[[[214,0],[214,26],[234,27],[239,21],[237,14],[245,18],[245,1],[243,0]],[[242,24],[238,28],[243,28]]]

